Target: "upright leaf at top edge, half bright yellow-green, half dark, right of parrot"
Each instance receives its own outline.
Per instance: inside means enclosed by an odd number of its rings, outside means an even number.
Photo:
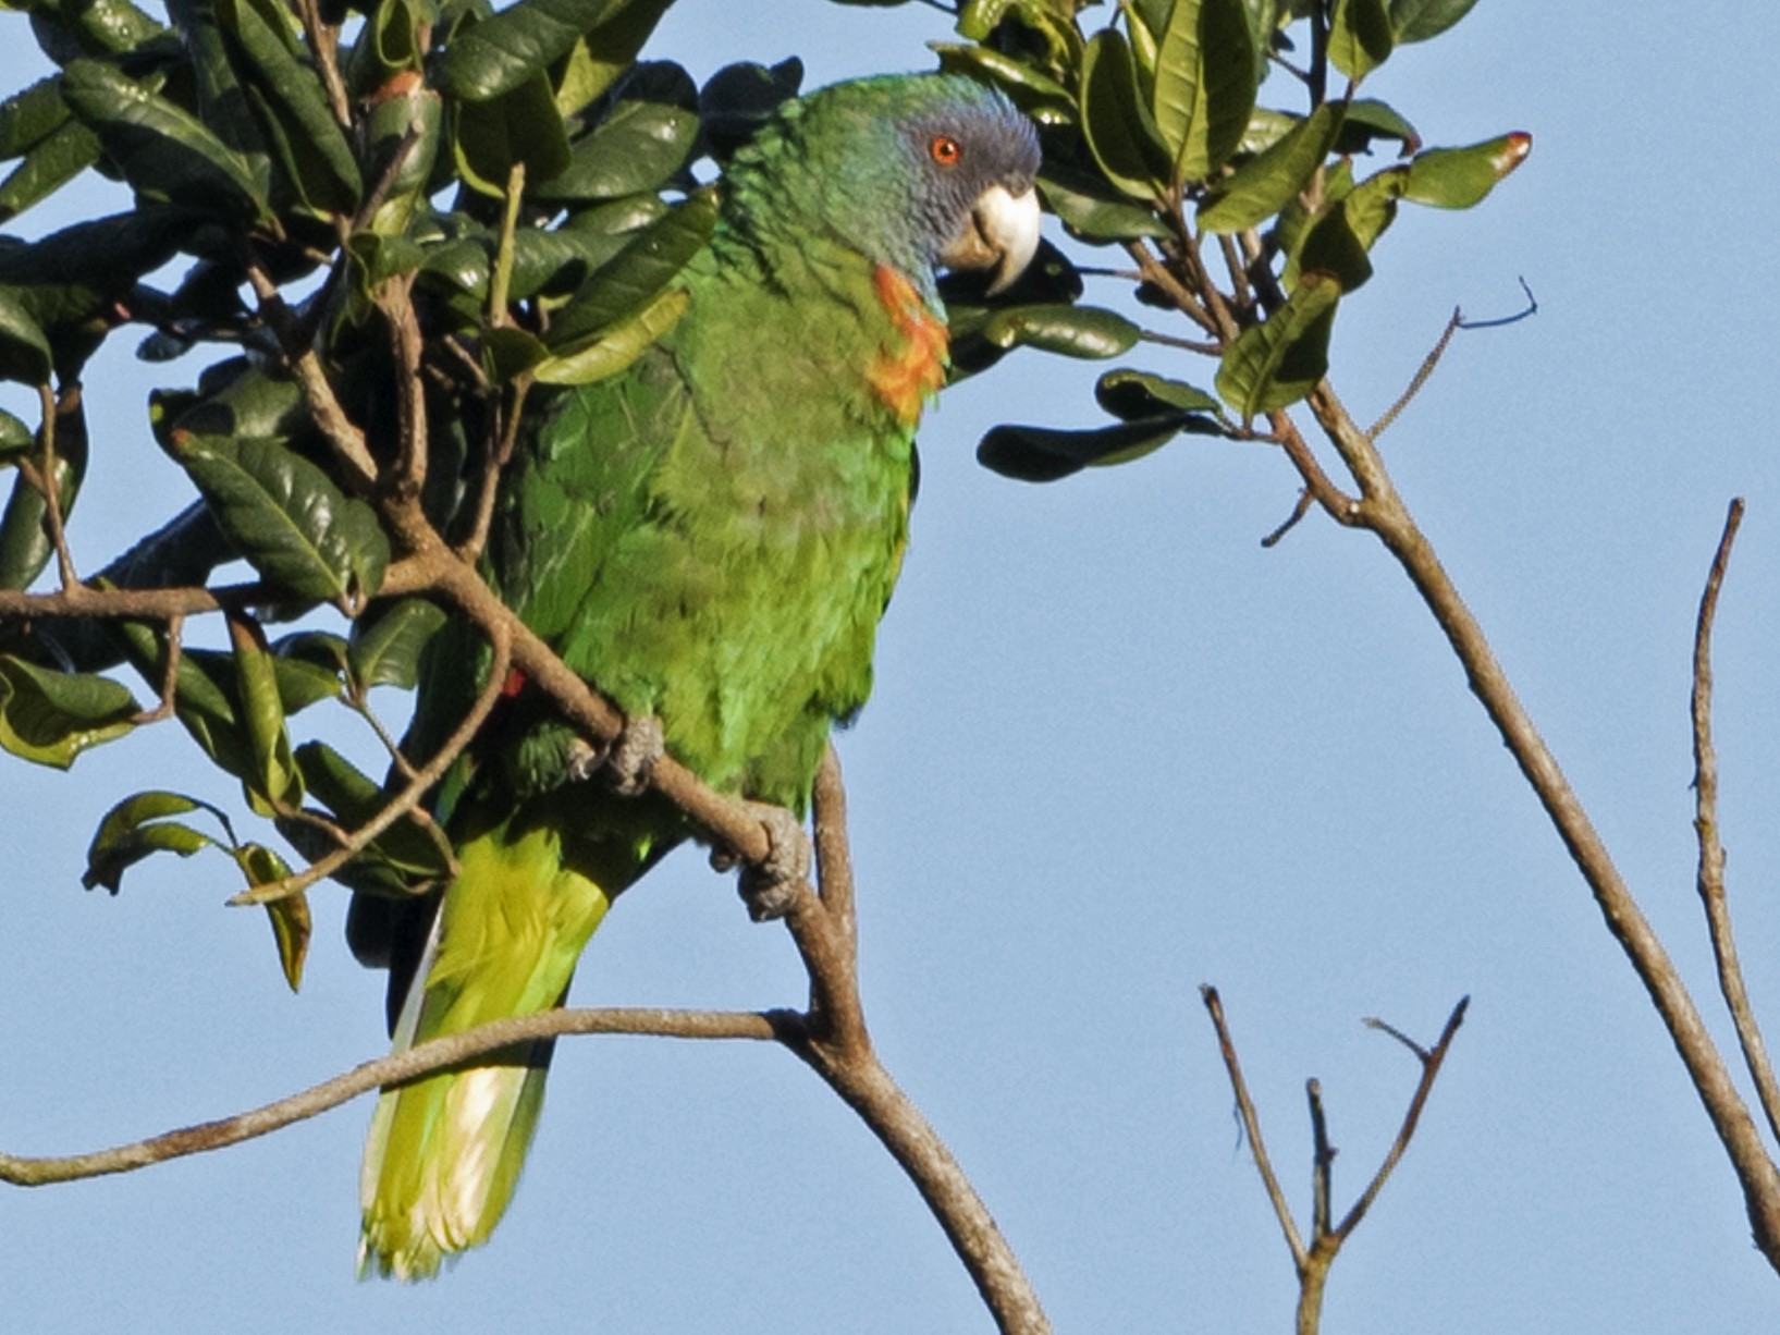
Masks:
[[[1175,0],[1157,34],[1153,91],[1175,180],[1205,180],[1230,160],[1258,85],[1244,0]]]

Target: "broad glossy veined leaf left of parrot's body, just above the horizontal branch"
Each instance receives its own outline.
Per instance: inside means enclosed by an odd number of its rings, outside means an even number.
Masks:
[[[383,582],[390,541],[363,500],[276,440],[173,433],[178,459],[222,532],[271,584],[356,602]]]

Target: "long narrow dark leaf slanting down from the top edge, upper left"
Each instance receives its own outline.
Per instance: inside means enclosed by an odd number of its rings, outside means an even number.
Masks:
[[[251,0],[215,0],[215,12],[253,71],[242,87],[297,198],[320,214],[351,214],[363,183],[320,78]]]

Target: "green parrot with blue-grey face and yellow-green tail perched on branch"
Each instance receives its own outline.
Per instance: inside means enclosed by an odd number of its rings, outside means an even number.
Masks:
[[[716,790],[801,815],[829,726],[865,703],[915,424],[947,370],[934,276],[988,271],[993,290],[1025,269],[1038,162],[1032,125],[963,77],[787,101],[728,166],[682,319],[564,392],[502,479],[491,584]],[[457,685],[424,680],[418,735],[477,689],[463,641],[445,657]],[[573,733],[509,685],[434,801],[457,876],[434,901],[352,906],[354,951],[392,970],[397,1050],[559,1006],[612,899],[691,833],[666,799],[589,781]],[[429,1276],[488,1239],[548,1059],[532,1045],[383,1093],[361,1274]]]

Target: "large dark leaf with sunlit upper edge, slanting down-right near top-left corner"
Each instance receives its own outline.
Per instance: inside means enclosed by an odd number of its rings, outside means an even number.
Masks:
[[[68,66],[62,96],[141,198],[265,215],[247,158],[183,107],[98,61]]]

